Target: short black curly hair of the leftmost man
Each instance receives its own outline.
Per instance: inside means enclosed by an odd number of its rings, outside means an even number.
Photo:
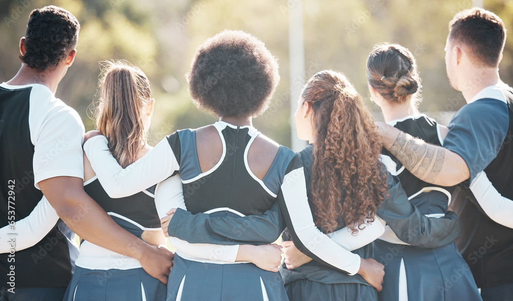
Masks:
[[[25,32],[25,54],[19,59],[30,68],[53,70],[78,41],[80,24],[69,11],[45,6],[34,9]]]

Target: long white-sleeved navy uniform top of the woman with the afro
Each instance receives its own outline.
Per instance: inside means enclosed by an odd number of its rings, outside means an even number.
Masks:
[[[273,214],[281,211],[287,225],[290,225],[289,229],[297,229],[292,231],[292,235],[298,248],[334,269],[356,274],[360,268],[360,256],[340,247],[315,227],[306,196],[303,166],[295,153],[280,146],[267,175],[260,180],[251,172],[247,162],[249,147],[260,133],[251,126],[234,126],[223,121],[216,122],[214,127],[223,143],[223,154],[219,162],[206,172],[199,168],[195,130],[190,129],[168,136],[146,156],[124,169],[109,153],[103,136],[89,139],[84,150],[102,186],[111,197],[133,194],[180,173],[189,212],[182,209],[176,211],[168,227],[170,236],[191,243],[209,242],[194,241],[202,236],[195,233],[191,235],[190,228],[181,228],[181,220],[193,213],[200,214],[203,220],[218,218],[225,223],[230,220],[237,222],[239,217],[235,215],[260,218],[267,214],[272,215],[268,219],[271,221],[267,223],[269,227],[255,233],[250,243],[270,243],[279,237],[284,228],[283,219],[275,218]],[[234,229],[237,228],[231,228],[231,235],[242,237]],[[239,232],[244,235],[251,231],[247,224],[241,229],[244,231]],[[177,235],[180,232],[186,237]],[[215,231],[210,236],[215,238]],[[248,243],[226,238],[219,242]]]

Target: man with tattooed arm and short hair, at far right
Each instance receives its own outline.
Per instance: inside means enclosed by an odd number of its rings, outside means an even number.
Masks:
[[[462,224],[458,249],[483,299],[506,300],[513,295],[513,229],[480,205],[513,198],[513,92],[498,69],[506,30],[496,14],[479,8],[458,13],[449,30],[447,76],[467,104],[451,119],[443,147],[384,124],[380,131],[384,146],[418,178],[445,186],[463,182],[451,202]],[[486,197],[490,191],[494,197]]]

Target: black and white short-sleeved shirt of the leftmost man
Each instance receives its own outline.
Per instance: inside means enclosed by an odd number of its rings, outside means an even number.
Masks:
[[[50,291],[62,298],[68,286],[78,254],[71,230],[54,221],[43,239],[33,241],[22,233],[18,236],[15,222],[42,200],[38,182],[84,177],[83,139],[84,126],[76,111],[46,86],[0,85],[0,226],[14,221],[1,243],[4,247],[10,242],[9,252],[0,255],[0,286],[7,299],[38,290],[38,297],[45,299],[48,293],[47,299],[54,300],[57,296]]]

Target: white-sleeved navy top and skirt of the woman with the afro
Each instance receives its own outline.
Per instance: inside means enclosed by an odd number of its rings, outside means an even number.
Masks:
[[[241,221],[241,215],[268,216],[253,243],[275,241],[284,229],[280,211],[285,212],[287,224],[299,225],[294,232],[294,241],[306,248],[309,256],[333,265],[334,269],[356,274],[360,268],[360,257],[329,239],[313,223],[306,196],[306,183],[301,162],[295,154],[281,146],[269,172],[263,180],[252,174],[247,164],[248,149],[260,133],[250,126],[234,126],[216,122],[214,127],[223,143],[223,155],[211,170],[202,173],[195,152],[195,131],[181,130],[157,144],[148,154],[123,169],[110,155],[105,137],[89,139],[84,150],[91,160],[93,170],[111,197],[122,197],[135,193],[180,172],[184,184],[187,209],[178,209],[171,219],[168,232],[189,243],[211,243],[194,241],[208,234],[192,228],[183,228],[188,216],[199,218],[198,224],[210,224],[220,220],[225,228],[213,232],[209,239],[215,240],[226,231],[230,221]],[[278,204],[276,204],[278,201]],[[278,215],[276,214],[278,213]],[[263,215],[254,215],[263,214]],[[249,217],[248,216],[248,217]],[[240,222],[240,228],[230,228],[235,238],[254,233],[253,225]],[[175,232],[176,231],[176,232]],[[180,237],[182,235],[182,237]],[[218,244],[248,243],[222,238]],[[200,262],[183,258],[180,252],[175,256],[174,267],[168,284],[168,300],[181,299],[235,299],[286,300],[287,296],[280,275],[263,271],[253,264],[225,264]],[[215,257],[214,257],[215,259]],[[212,260],[215,262],[215,260]],[[222,275],[222,277],[220,277]]]

